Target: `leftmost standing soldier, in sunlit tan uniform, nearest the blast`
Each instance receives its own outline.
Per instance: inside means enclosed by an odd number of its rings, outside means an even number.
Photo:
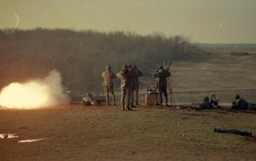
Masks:
[[[112,82],[112,79],[116,78],[116,75],[111,71],[111,66],[106,66],[106,71],[101,74],[102,78],[104,79],[104,82],[102,83],[102,86],[105,90],[105,98],[107,101],[107,105],[109,104],[109,92],[112,95],[112,100],[114,105],[115,104],[115,96],[114,96],[114,84]]]

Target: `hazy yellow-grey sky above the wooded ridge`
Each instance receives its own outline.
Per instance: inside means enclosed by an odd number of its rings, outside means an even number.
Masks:
[[[68,28],[256,43],[256,0],[0,0],[0,28]]]

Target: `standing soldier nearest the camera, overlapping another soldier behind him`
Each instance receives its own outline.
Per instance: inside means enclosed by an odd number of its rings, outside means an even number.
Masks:
[[[122,110],[125,110],[125,107],[128,110],[132,109],[130,108],[130,102],[131,102],[131,89],[132,89],[132,80],[133,80],[133,74],[128,70],[128,65],[123,65],[123,69],[116,74],[118,78],[121,79],[121,89],[122,89]],[[126,101],[127,98],[127,101]]]

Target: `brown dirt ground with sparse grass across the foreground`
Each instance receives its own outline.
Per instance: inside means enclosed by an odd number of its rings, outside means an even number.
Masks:
[[[255,161],[256,111],[79,103],[0,109],[0,161]],[[19,129],[22,125],[27,128]],[[253,136],[215,133],[215,127]],[[21,140],[41,139],[19,143]]]

